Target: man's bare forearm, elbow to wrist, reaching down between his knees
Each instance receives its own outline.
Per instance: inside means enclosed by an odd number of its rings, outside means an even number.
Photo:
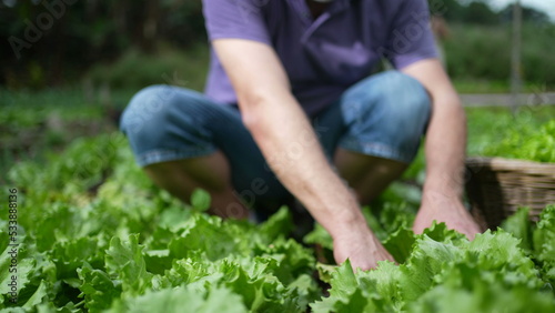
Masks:
[[[332,236],[344,226],[365,226],[354,195],[331,169],[293,95],[275,92],[254,101],[245,124],[283,185]]]

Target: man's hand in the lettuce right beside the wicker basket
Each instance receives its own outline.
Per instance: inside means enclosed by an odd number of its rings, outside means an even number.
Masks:
[[[440,192],[424,194],[413,231],[422,233],[434,220],[438,223],[444,222],[448,229],[465,234],[468,240],[474,240],[474,236],[482,232],[457,196],[446,196]]]

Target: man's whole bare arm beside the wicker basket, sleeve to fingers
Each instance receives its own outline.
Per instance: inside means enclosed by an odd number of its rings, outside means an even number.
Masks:
[[[466,120],[461,100],[435,59],[415,62],[402,71],[426,88],[433,103],[425,143],[426,181],[414,231],[421,233],[437,220],[472,240],[481,230],[461,200],[466,147]]]

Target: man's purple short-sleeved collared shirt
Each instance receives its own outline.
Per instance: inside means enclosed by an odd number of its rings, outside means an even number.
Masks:
[[[203,6],[210,40],[273,47],[293,95],[311,115],[367,77],[382,57],[396,69],[436,57],[426,0],[335,0],[315,20],[305,0],[203,0]],[[213,51],[205,94],[236,103]]]

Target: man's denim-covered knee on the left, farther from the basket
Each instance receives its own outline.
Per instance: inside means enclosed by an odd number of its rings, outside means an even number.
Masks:
[[[196,158],[214,150],[209,125],[216,107],[196,91],[152,85],[131,99],[120,128],[141,165]]]

